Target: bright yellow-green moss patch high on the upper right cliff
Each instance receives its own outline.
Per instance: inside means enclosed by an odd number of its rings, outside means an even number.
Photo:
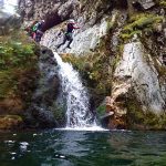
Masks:
[[[155,25],[163,19],[163,17],[145,13],[133,15],[128,20],[128,24],[123,28],[121,38],[126,41],[132,39],[134,34],[142,35],[142,33],[153,32]]]

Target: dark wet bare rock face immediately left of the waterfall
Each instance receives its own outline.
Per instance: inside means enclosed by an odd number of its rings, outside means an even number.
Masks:
[[[58,122],[51,107],[59,94],[58,64],[52,51],[48,48],[41,48],[39,65],[41,76],[28,111],[30,114],[27,124],[31,125],[34,118],[35,127],[55,127]]]

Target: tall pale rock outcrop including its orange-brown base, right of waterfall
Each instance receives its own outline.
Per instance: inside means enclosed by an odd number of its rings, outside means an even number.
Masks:
[[[133,100],[135,103],[139,103],[134,105],[134,107],[138,106],[137,112],[160,115],[166,111],[166,80],[160,81],[151,55],[146,55],[145,59],[145,50],[141,42],[124,45],[123,58],[116,66],[114,79],[116,82],[113,84],[110,102],[111,107],[114,107],[115,116],[117,116],[113,118],[114,121],[117,118],[122,121],[126,116],[129,112],[126,103]],[[135,97],[133,98],[133,96]],[[108,112],[111,111],[108,110]],[[116,122],[116,126],[118,126],[118,122]]]

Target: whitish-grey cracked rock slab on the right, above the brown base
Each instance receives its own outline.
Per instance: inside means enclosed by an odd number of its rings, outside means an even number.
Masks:
[[[147,61],[147,62],[146,62]],[[138,101],[144,106],[144,110],[159,114],[165,111],[165,98],[162,94],[162,89],[158,80],[158,72],[153,65],[151,56],[146,55],[141,42],[132,42],[125,44],[123,59],[120,61],[114,76],[123,84],[123,89],[113,90],[113,98],[122,93],[127,94],[131,89],[134,89]],[[124,86],[124,83],[127,86]],[[129,86],[128,86],[129,85]],[[118,95],[116,94],[120,91]]]

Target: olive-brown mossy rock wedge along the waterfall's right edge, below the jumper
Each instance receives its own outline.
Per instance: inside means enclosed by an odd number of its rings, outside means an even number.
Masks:
[[[112,68],[110,35],[101,39],[100,45],[86,55],[63,55],[63,61],[72,63],[80,72],[84,84],[86,84],[93,96],[95,106],[111,94]]]

